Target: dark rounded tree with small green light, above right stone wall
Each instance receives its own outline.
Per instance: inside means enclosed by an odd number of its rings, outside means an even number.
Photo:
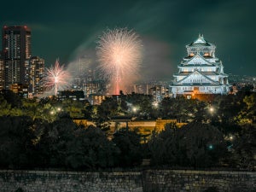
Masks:
[[[219,165],[225,152],[224,137],[221,131],[209,124],[190,123],[181,129],[180,142],[190,166]]]

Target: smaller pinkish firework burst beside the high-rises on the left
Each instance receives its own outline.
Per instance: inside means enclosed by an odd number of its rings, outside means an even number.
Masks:
[[[58,90],[67,89],[68,80],[70,79],[70,73],[64,69],[64,66],[60,66],[59,61],[56,60],[54,67],[46,68],[46,75],[43,79],[44,87],[46,90],[54,90],[55,96],[57,96]]]

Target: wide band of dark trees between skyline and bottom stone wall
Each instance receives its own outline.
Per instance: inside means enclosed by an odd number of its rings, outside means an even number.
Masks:
[[[142,165],[254,170],[256,94],[217,96],[212,102],[165,98],[158,106],[142,94],[108,97],[99,106],[55,97],[28,100],[11,91],[0,94],[0,167],[95,170]],[[136,110],[135,110],[136,108]],[[177,119],[142,143],[138,131],[109,135],[115,116]],[[76,125],[90,119],[96,126]]]

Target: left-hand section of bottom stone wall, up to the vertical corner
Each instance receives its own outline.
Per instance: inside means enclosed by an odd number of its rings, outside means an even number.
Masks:
[[[17,189],[27,192],[143,192],[140,172],[0,171],[0,191]]]

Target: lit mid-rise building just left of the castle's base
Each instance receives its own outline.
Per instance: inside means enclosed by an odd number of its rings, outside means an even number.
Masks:
[[[154,102],[158,103],[163,100],[163,98],[169,96],[169,90],[162,85],[156,85],[149,90],[149,95],[153,96]]]

